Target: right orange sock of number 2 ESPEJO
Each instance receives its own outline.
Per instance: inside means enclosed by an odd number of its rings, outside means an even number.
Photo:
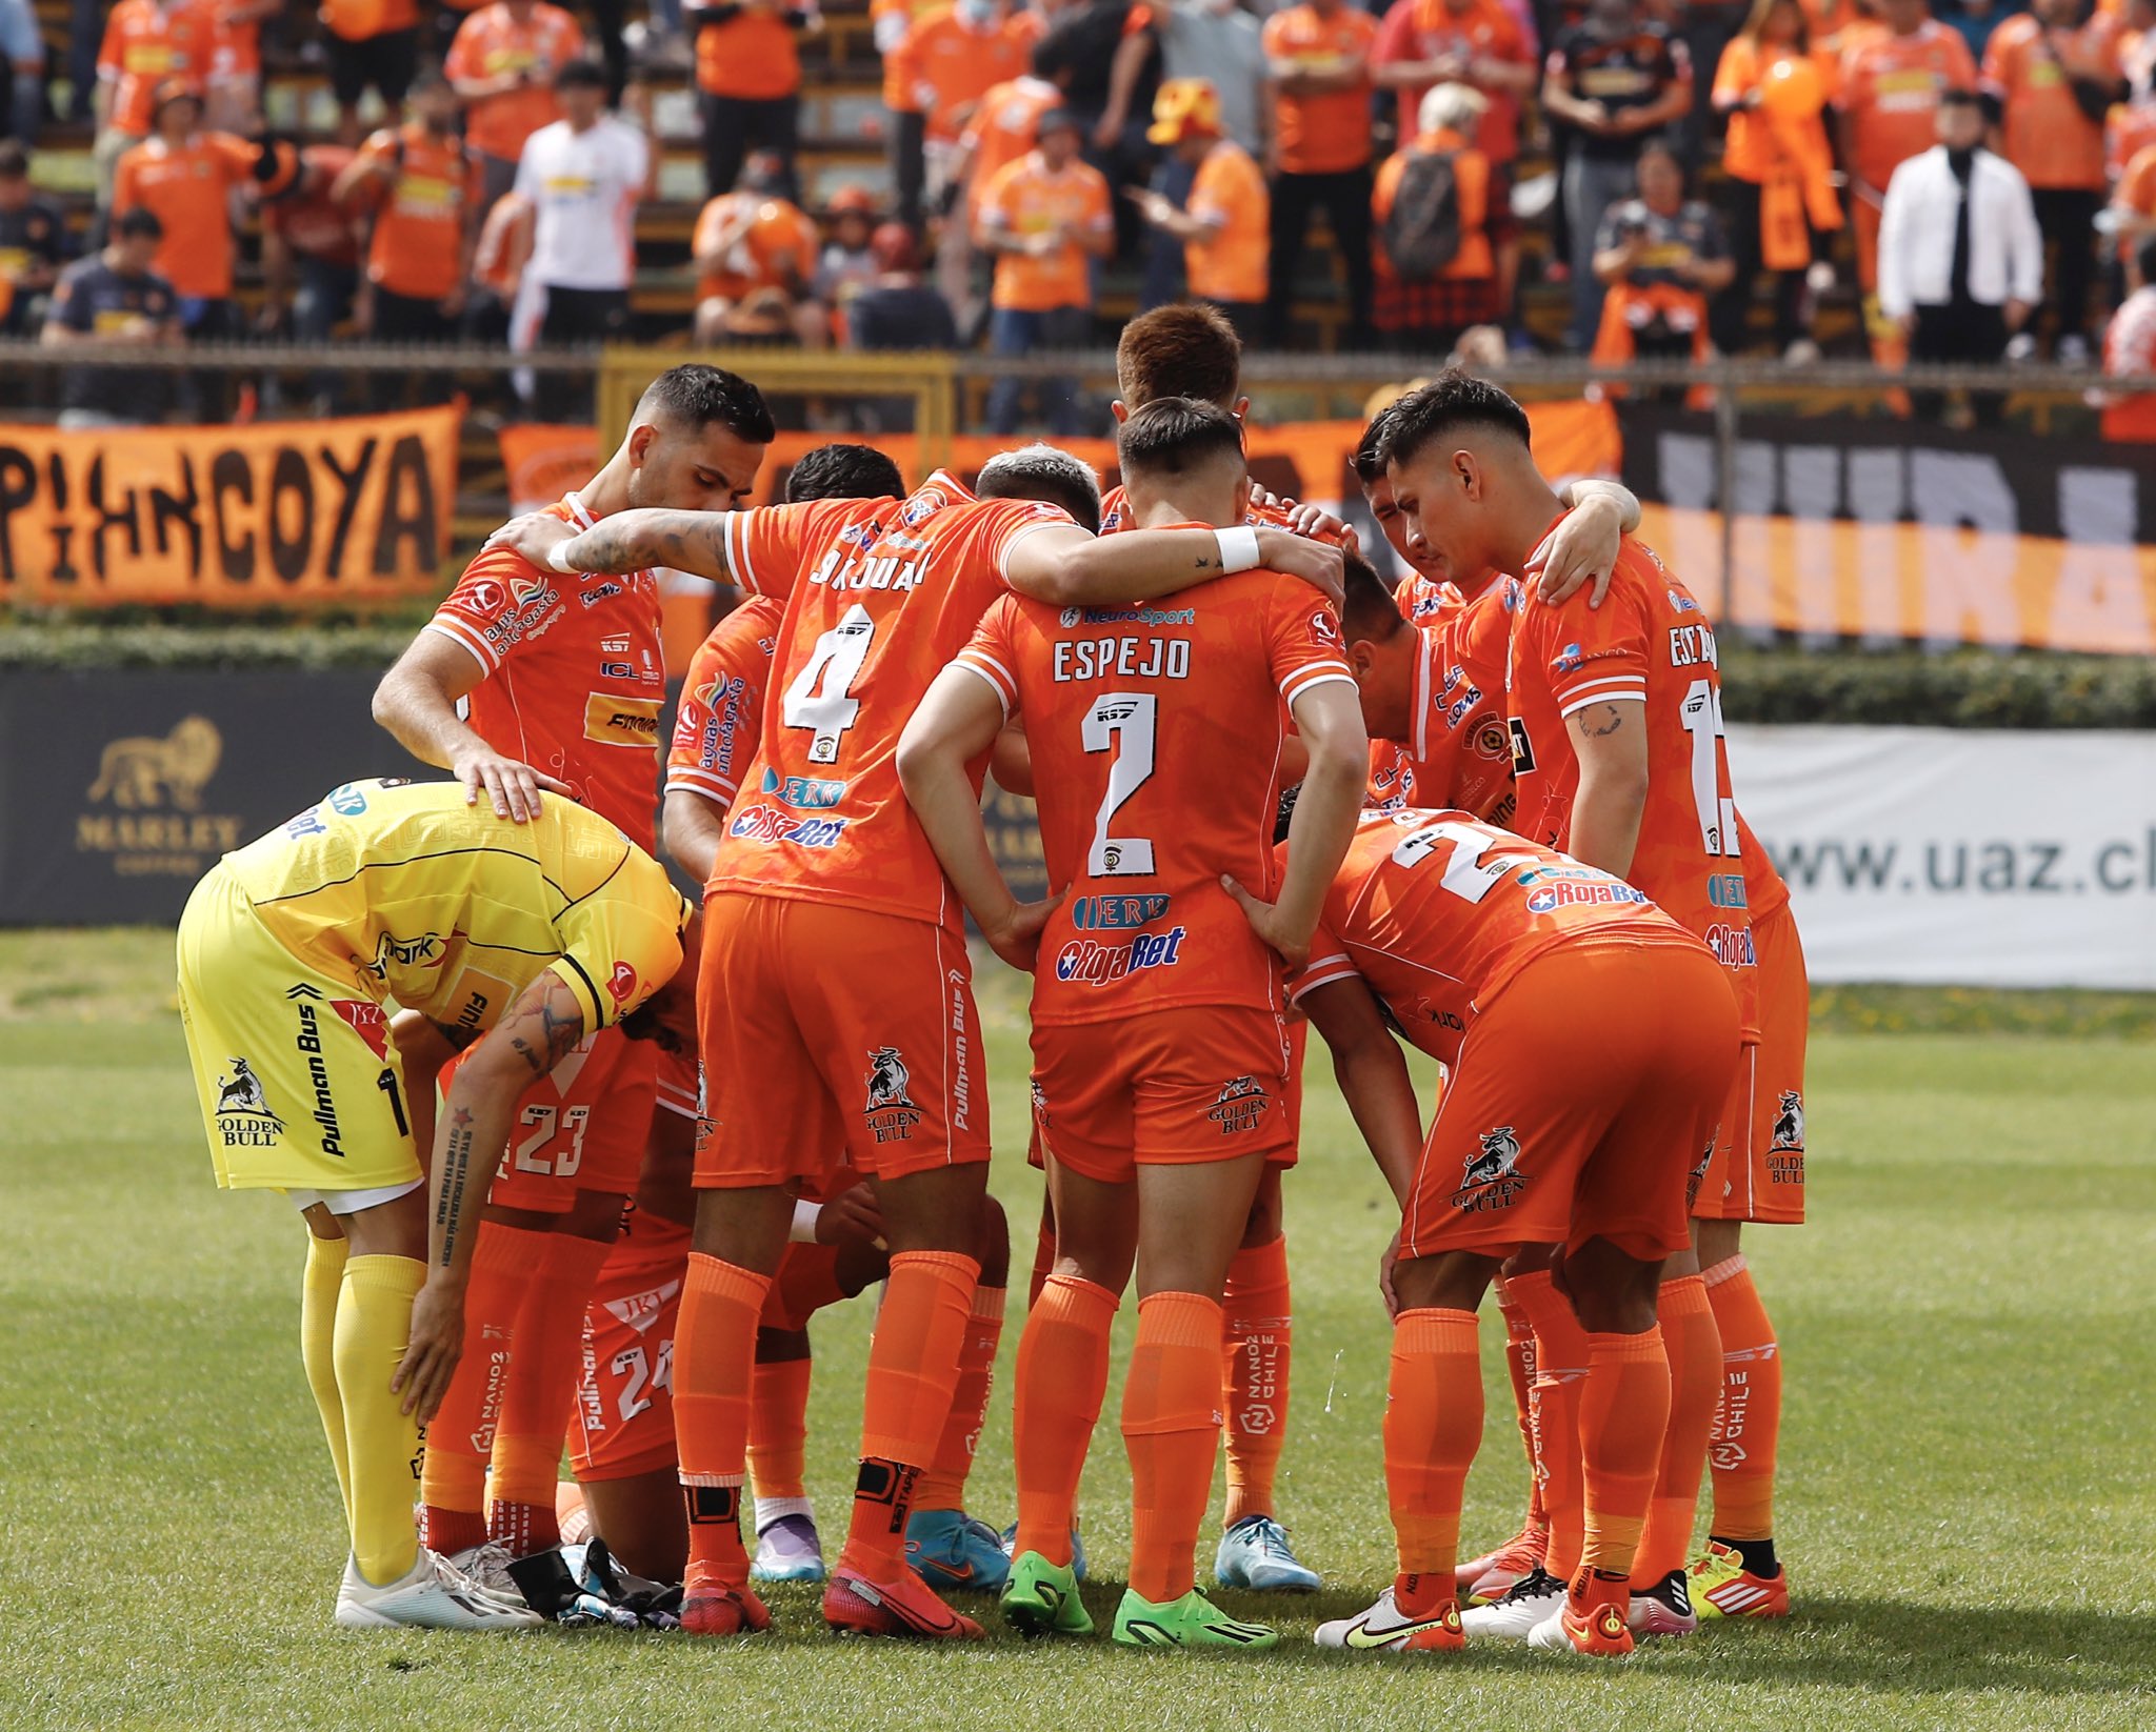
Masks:
[[[1130,1450],[1130,1588],[1153,1605],[1197,1581],[1199,1527],[1220,1448],[1220,1303],[1149,1293],[1123,1379]]]

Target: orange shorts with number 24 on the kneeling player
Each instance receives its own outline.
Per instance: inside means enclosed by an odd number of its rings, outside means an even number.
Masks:
[[[584,1377],[569,1417],[578,1480],[630,1480],[675,1463],[673,1340],[690,1230],[632,1209],[584,1312]]]

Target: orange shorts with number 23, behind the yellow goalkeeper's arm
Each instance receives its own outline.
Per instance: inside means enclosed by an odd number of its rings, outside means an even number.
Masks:
[[[517,1101],[487,1202],[567,1215],[578,1191],[632,1196],[651,1135],[658,1060],[658,1045],[619,1028],[586,1034]]]

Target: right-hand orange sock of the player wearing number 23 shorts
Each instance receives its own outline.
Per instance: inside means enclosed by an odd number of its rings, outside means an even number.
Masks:
[[[494,1439],[487,1538],[511,1558],[561,1545],[554,1482],[561,1478],[561,1428],[584,1370],[584,1308],[599,1284],[610,1241],[573,1232],[545,1234],[545,1262],[517,1308],[517,1351],[509,1359],[502,1428]]]

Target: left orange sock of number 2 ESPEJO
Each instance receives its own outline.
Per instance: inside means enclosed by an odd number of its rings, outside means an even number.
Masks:
[[[1108,1329],[1117,1295],[1076,1275],[1050,1275],[1018,1338],[1011,1400],[1018,1469],[1013,1551],[1072,1560],[1072,1510],[1093,1426],[1108,1394]]]

